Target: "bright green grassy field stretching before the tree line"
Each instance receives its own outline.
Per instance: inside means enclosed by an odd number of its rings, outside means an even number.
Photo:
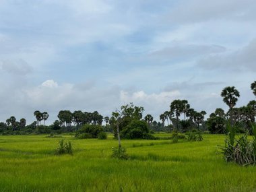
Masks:
[[[73,156],[55,156],[61,138],[0,136],[0,191],[255,191],[256,167],[216,154],[224,135],[203,141],[123,140],[130,160],[111,158],[118,143],[75,139]],[[170,137],[158,133],[158,137]]]

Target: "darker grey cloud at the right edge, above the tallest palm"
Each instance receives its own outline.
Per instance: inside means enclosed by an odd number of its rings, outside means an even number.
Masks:
[[[256,72],[256,40],[251,41],[247,46],[233,51],[232,53],[221,53],[205,57],[198,61],[199,67],[204,69],[228,69],[228,70],[249,70]]]

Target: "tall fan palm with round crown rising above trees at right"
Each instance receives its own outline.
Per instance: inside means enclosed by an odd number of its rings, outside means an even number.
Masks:
[[[234,106],[236,105],[236,102],[238,100],[238,97],[240,97],[240,94],[238,90],[236,90],[236,88],[232,86],[224,88],[220,95],[223,97],[223,101],[230,108],[230,121],[232,124],[232,108],[234,108]]]

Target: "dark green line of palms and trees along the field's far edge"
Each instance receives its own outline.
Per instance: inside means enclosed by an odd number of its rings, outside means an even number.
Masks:
[[[251,90],[256,96],[256,81],[251,84]],[[22,118],[16,121],[14,116],[11,116],[5,122],[0,123],[1,133],[51,133],[52,131],[71,132],[81,129],[83,125],[102,125],[105,121],[106,125],[102,126],[104,131],[117,133],[117,123],[119,118],[120,131],[126,129],[131,121],[143,121],[142,127],[148,127],[150,131],[188,131],[191,129],[207,130],[210,133],[225,133],[226,121],[230,119],[231,123],[237,123],[241,131],[250,129],[250,124],[255,122],[256,115],[256,101],[251,100],[246,106],[235,107],[240,93],[234,87],[226,87],[220,94],[223,101],[228,105],[227,113],[222,108],[210,114],[210,117],[205,120],[206,112],[196,111],[191,108],[188,100],[173,100],[170,103],[170,110],[165,111],[160,115],[160,122],[154,121],[152,115],[147,114],[143,117],[144,108],[141,106],[134,106],[132,103],[123,105],[119,110],[112,113],[112,116],[103,117],[98,111],[83,112],[82,110],[75,110],[73,113],[70,110],[60,110],[52,125],[46,126],[45,121],[49,119],[49,113],[34,112],[35,120],[30,125],[26,125],[26,119]],[[119,116],[122,117],[119,117]],[[183,117],[182,117],[183,116]],[[41,125],[41,122],[42,125]],[[138,123],[138,122],[137,122]],[[165,124],[167,123],[167,125]],[[135,125],[133,125],[135,126]],[[137,125],[136,125],[137,126]],[[133,130],[133,132],[135,132]],[[147,132],[147,131],[146,131]],[[140,134],[140,133],[138,133]],[[123,131],[123,135],[125,135]],[[128,136],[127,136],[128,137]],[[148,137],[148,136],[147,136]]]

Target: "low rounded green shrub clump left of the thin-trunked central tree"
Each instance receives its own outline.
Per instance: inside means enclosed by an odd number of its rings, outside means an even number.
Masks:
[[[103,132],[103,128],[101,125],[83,125],[82,129],[79,129],[77,133],[75,133],[75,137],[78,139],[90,139],[90,138],[98,138],[98,135]]]

